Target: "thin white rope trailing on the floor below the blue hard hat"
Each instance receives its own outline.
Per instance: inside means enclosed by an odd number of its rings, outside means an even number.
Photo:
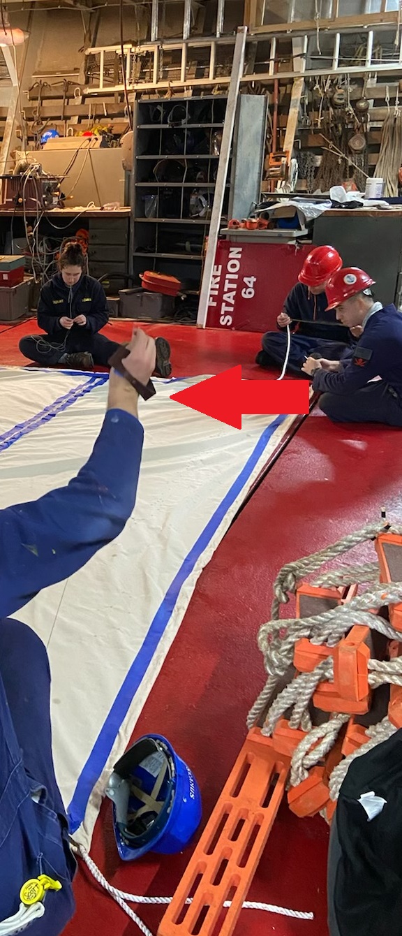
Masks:
[[[74,845],[74,851],[85,862],[87,868],[91,871],[91,874],[93,875],[93,878],[95,879],[95,881],[97,881],[97,883],[101,885],[101,887],[103,887],[104,890],[108,892],[110,897],[116,900],[119,906],[122,907],[122,910],[124,911],[124,913],[127,914],[127,916],[129,916],[130,919],[132,919],[136,923],[136,926],[138,927],[138,929],[141,930],[144,936],[152,936],[151,929],[148,929],[148,927],[146,927],[145,923],[143,923],[143,921],[139,918],[139,916],[137,916],[137,914],[134,913],[134,910],[132,910],[131,907],[128,906],[128,903],[126,901],[129,900],[130,903],[167,904],[167,903],[171,903],[173,898],[172,897],[141,897],[138,894],[126,894],[124,891],[118,890],[116,887],[112,887],[112,885],[108,884],[108,881],[102,874],[102,871],[100,871],[97,865],[95,865],[93,859],[88,855],[88,852],[86,851],[85,848],[83,848],[82,845]],[[186,903],[191,903],[191,902],[192,902],[191,898],[188,898],[186,900]],[[223,903],[223,907],[226,908],[230,906],[231,906],[231,901],[225,900]],[[289,910],[288,907],[277,907],[275,904],[272,904],[272,903],[259,903],[256,900],[246,900],[243,903],[243,910],[263,910],[268,914],[279,914],[280,916],[291,916],[297,920],[313,920],[314,919],[314,914],[311,914],[311,913],[304,913],[301,910]]]

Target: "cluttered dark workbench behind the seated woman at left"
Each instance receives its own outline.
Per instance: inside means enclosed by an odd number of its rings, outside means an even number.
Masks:
[[[110,280],[110,291],[117,292],[127,285],[124,276],[128,271],[128,244],[130,227],[130,209],[121,208],[114,212],[95,208],[54,208],[46,212],[39,211],[40,237],[54,242],[54,246],[69,235],[76,234],[84,227],[89,232],[89,272],[95,279],[109,274],[117,274]],[[0,209],[0,252],[25,253],[25,220],[28,227],[36,227],[36,212],[29,210],[10,211]],[[19,244],[22,250],[19,250]],[[120,274],[120,275],[119,275]],[[108,292],[108,280],[103,281]]]

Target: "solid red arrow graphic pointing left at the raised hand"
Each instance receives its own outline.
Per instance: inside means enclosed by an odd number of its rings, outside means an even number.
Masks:
[[[307,415],[308,380],[242,380],[241,364],[173,393],[171,400],[241,429],[246,414]]]

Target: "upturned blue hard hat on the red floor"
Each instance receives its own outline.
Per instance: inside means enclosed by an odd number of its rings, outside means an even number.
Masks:
[[[201,822],[194,775],[161,735],[145,735],[122,755],[106,793],[123,861],[181,852]]]

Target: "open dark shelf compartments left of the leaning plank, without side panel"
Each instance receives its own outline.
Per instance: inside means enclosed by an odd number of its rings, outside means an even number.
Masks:
[[[132,181],[132,271],[200,285],[218,169],[226,95],[136,103]],[[223,212],[227,213],[230,184]]]

